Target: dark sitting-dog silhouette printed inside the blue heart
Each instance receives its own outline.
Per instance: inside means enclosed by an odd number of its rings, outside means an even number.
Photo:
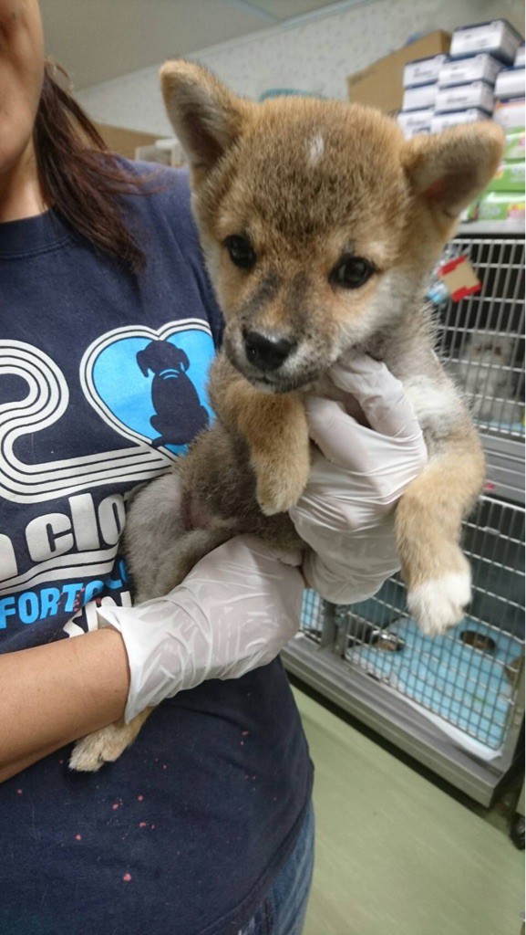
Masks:
[[[136,355],[141,373],[153,373],[151,401],[155,415],[149,420],[156,432],[154,448],[162,445],[185,445],[196,432],[206,428],[209,417],[201,405],[192,381],[186,375],[190,367],[188,355],[169,341],[151,341]]]

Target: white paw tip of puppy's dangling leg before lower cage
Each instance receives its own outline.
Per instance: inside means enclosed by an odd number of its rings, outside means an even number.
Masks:
[[[412,588],[407,595],[407,607],[422,633],[440,636],[462,620],[470,600],[470,575],[449,574]]]

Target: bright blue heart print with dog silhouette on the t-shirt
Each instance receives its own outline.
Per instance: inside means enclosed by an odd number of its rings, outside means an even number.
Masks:
[[[102,347],[92,364],[93,388],[123,426],[122,434],[184,453],[213,418],[206,398],[213,340],[200,328],[174,331],[166,338],[162,332],[135,330],[143,334],[119,335]]]

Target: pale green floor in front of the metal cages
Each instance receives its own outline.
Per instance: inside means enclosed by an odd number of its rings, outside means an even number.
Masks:
[[[316,766],[317,856],[304,935],[519,935],[524,852],[294,689]]]

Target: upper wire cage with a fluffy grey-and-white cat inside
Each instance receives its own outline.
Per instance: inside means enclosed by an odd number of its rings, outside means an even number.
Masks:
[[[524,244],[457,237],[448,255],[469,256],[481,291],[439,309],[438,352],[465,391],[482,432],[524,437]]]

